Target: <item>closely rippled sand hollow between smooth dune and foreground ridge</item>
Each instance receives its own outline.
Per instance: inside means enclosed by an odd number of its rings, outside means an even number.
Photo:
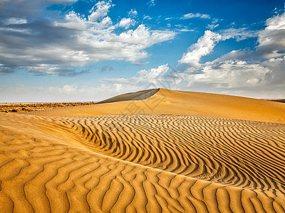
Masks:
[[[276,195],[285,193],[285,125],[191,116],[88,116],[64,123],[121,160]]]

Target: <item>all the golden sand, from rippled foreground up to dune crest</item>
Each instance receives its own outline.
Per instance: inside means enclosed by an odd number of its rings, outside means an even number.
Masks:
[[[150,89],[0,113],[0,212],[285,212],[285,104]]]

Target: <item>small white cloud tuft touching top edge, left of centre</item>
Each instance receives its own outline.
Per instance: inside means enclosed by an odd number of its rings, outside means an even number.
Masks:
[[[89,21],[97,21],[98,19],[107,16],[111,6],[113,6],[112,1],[98,1],[98,3],[89,11]]]

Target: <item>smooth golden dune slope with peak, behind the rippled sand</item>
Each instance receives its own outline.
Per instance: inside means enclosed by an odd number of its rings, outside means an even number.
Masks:
[[[222,94],[152,89],[99,104],[30,112],[35,115],[167,114],[285,123],[285,104]]]

